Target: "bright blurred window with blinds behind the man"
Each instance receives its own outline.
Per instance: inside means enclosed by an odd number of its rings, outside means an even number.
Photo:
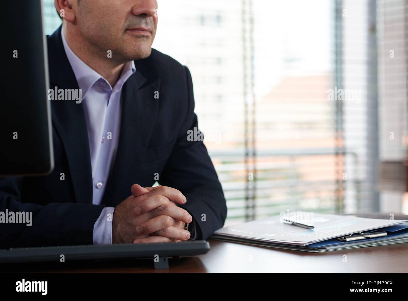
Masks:
[[[406,0],[158,4],[153,47],[191,70],[226,225],[286,210],[401,212],[402,193],[389,207],[377,180],[379,162],[406,156]],[[50,34],[60,21],[44,7]]]

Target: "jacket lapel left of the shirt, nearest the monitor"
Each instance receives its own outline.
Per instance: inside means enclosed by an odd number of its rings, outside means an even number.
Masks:
[[[79,89],[62,44],[61,27],[48,38],[48,61],[51,89]],[[92,204],[91,156],[83,105],[74,100],[51,100],[51,111],[67,155],[75,200]],[[58,175],[60,172],[64,173],[58,171]]]

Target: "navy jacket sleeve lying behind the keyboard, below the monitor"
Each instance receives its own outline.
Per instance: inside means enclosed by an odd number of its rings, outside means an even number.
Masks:
[[[24,178],[0,179],[0,217],[24,212],[32,216],[26,223],[0,219],[0,248],[93,244],[93,227],[104,206],[80,203],[39,205],[20,199]],[[35,200],[35,195],[32,195]],[[9,220],[8,220],[9,221]]]

